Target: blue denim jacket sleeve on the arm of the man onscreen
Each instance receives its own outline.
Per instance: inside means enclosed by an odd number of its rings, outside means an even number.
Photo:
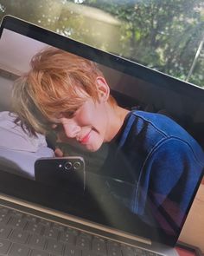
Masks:
[[[137,205],[145,201],[161,226],[180,228],[202,169],[196,148],[175,138],[164,141],[143,167]]]

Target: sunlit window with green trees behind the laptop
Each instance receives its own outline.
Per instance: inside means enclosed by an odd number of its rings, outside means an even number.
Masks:
[[[63,36],[204,87],[203,0],[2,0],[18,16]]]

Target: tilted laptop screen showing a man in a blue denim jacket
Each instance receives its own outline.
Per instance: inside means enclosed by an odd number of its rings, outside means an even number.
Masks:
[[[204,91],[7,16],[0,187],[173,245],[204,167]]]

